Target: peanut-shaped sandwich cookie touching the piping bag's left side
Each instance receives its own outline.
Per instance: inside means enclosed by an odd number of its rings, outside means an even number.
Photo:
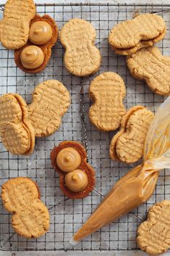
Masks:
[[[143,106],[129,109],[122,117],[119,132],[111,140],[110,157],[112,160],[127,163],[140,160],[153,116],[153,112]]]

